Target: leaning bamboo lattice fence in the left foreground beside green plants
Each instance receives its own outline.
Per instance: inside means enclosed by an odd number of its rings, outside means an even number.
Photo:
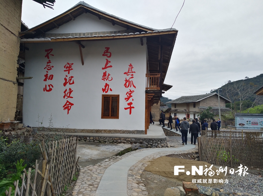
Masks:
[[[39,144],[43,158],[36,160],[34,169],[29,168],[28,172],[24,169],[20,187],[19,180],[14,181],[14,196],[59,196],[75,174],[77,144],[77,137],[48,144],[43,140]],[[6,190],[6,196],[11,192],[12,187]]]

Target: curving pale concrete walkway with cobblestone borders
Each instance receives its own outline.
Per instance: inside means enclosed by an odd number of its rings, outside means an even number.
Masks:
[[[181,142],[176,143],[177,148],[140,149],[126,153],[123,156],[105,159],[94,166],[89,165],[81,168],[72,195],[146,196],[148,192],[144,187],[140,174],[144,171],[148,161],[168,154],[196,150],[194,149],[195,145],[181,146]],[[132,186],[132,190],[127,186]],[[137,186],[137,188],[134,186]]]

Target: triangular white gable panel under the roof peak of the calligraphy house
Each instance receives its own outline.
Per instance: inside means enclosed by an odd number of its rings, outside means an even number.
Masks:
[[[101,32],[101,31],[120,31],[126,28],[120,27],[117,24],[114,26],[111,22],[106,20],[99,20],[98,17],[86,13],[77,17],[75,20],[63,24],[59,29],[55,28],[46,33],[87,33],[87,32]]]

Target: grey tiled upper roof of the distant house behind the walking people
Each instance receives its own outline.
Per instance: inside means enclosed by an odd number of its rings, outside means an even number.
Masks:
[[[203,94],[203,95],[192,95],[192,96],[181,96],[178,99],[174,99],[172,101],[169,101],[167,103],[192,103],[192,102],[198,102],[200,100],[203,100],[207,97],[213,96],[213,95],[217,95],[217,93],[207,93],[207,94]],[[220,95],[219,95],[220,96]],[[220,98],[224,99],[226,101],[226,103],[230,103],[231,101],[229,101],[228,99],[220,96]]]

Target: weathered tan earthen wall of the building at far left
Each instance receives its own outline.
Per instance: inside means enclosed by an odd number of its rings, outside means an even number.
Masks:
[[[17,84],[6,80],[16,82],[21,11],[22,0],[0,1],[0,121],[15,117]]]

